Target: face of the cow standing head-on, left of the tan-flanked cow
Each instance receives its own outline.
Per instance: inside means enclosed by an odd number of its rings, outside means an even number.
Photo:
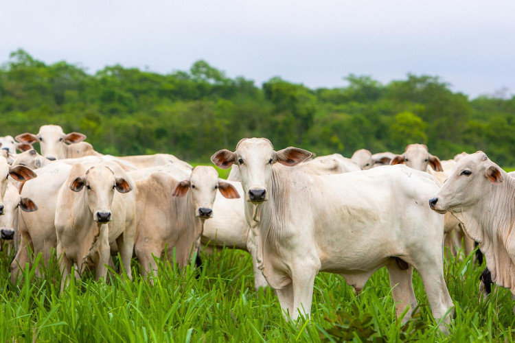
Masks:
[[[85,189],[85,198],[93,220],[99,224],[111,222],[111,204],[115,191],[127,193],[132,187],[124,178],[115,178],[111,169],[105,166],[91,167],[84,176],[75,178],[70,185],[72,191]]]

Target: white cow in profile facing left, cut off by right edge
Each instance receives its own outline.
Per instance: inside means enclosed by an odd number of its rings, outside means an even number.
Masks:
[[[515,294],[515,179],[484,152],[461,156],[429,205],[438,213],[452,213],[479,243],[487,293],[493,281]]]

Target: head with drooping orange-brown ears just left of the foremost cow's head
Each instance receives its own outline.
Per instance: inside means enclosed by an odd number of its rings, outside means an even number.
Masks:
[[[238,191],[229,182],[218,178],[214,167],[198,166],[192,171],[189,179],[179,182],[172,192],[172,196],[185,196],[190,191],[190,199],[195,206],[195,215],[201,220],[213,216],[213,204],[216,190],[228,199],[240,198]]]

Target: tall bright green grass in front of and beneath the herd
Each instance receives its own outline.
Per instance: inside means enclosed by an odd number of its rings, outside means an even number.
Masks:
[[[273,292],[253,289],[252,265],[244,252],[223,249],[203,254],[204,268],[161,265],[150,285],[133,261],[133,281],[116,274],[110,282],[72,280],[59,294],[60,274],[50,263],[45,279],[25,271],[25,283],[12,285],[1,252],[0,342],[512,342],[514,302],[497,288],[480,301],[478,277],[483,267],[448,261],[445,276],[456,306],[450,335],[439,333],[431,318],[422,281],[415,273],[420,312],[401,326],[395,317],[389,279],[379,270],[356,295],[341,276],[321,273],[314,285],[309,321],[286,322]]]

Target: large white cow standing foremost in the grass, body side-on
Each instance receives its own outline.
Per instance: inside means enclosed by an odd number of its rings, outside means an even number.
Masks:
[[[240,169],[260,269],[286,318],[310,315],[319,272],[340,274],[361,291],[386,266],[398,316],[410,307],[407,320],[417,305],[414,267],[433,316],[448,323],[453,302],[443,271],[444,218],[426,205],[437,180],[406,166],[330,176],[293,167],[310,155],[297,147],[275,152],[268,139],[254,138],[211,157],[218,167]]]

